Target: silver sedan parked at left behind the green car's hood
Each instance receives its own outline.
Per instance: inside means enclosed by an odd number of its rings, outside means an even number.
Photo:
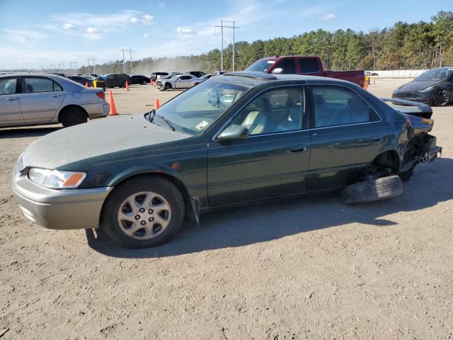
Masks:
[[[108,115],[103,89],[86,88],[55,74],[0,75],[0,128],[62,123]]]

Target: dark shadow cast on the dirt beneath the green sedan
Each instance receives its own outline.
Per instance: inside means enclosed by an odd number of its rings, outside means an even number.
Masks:
[[[453,198],[451,169],[453,159],[420,164],[411,181],[404,183],[403,194],[391,200],[343,205],[335,193],[329,193],[207,213],[200,216],[200,226],[185,225],[170,242],[150,249],[122,248],[102,233],[96,237],[91,229],[86,237],[92,249],[107,256],[153,258],[246,246],[350,223],[398,227],[387,216],[430,208]]]

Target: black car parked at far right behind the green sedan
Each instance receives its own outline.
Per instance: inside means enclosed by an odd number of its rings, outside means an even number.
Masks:
[[[453,67],[430,69],[413,81],[399,86],[391,98],[447,106],[453,101]]]

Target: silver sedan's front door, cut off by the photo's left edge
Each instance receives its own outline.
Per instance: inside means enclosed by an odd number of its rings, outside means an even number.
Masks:
[[[17,88],[17,77],[0,78],[0,125],[24,123]]]

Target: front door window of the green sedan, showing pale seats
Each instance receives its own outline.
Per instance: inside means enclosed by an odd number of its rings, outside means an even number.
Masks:
[[[266,91],[242,108],[231,121],[248,129],[248,135],[301,130],[305,101],[302,87]]]

